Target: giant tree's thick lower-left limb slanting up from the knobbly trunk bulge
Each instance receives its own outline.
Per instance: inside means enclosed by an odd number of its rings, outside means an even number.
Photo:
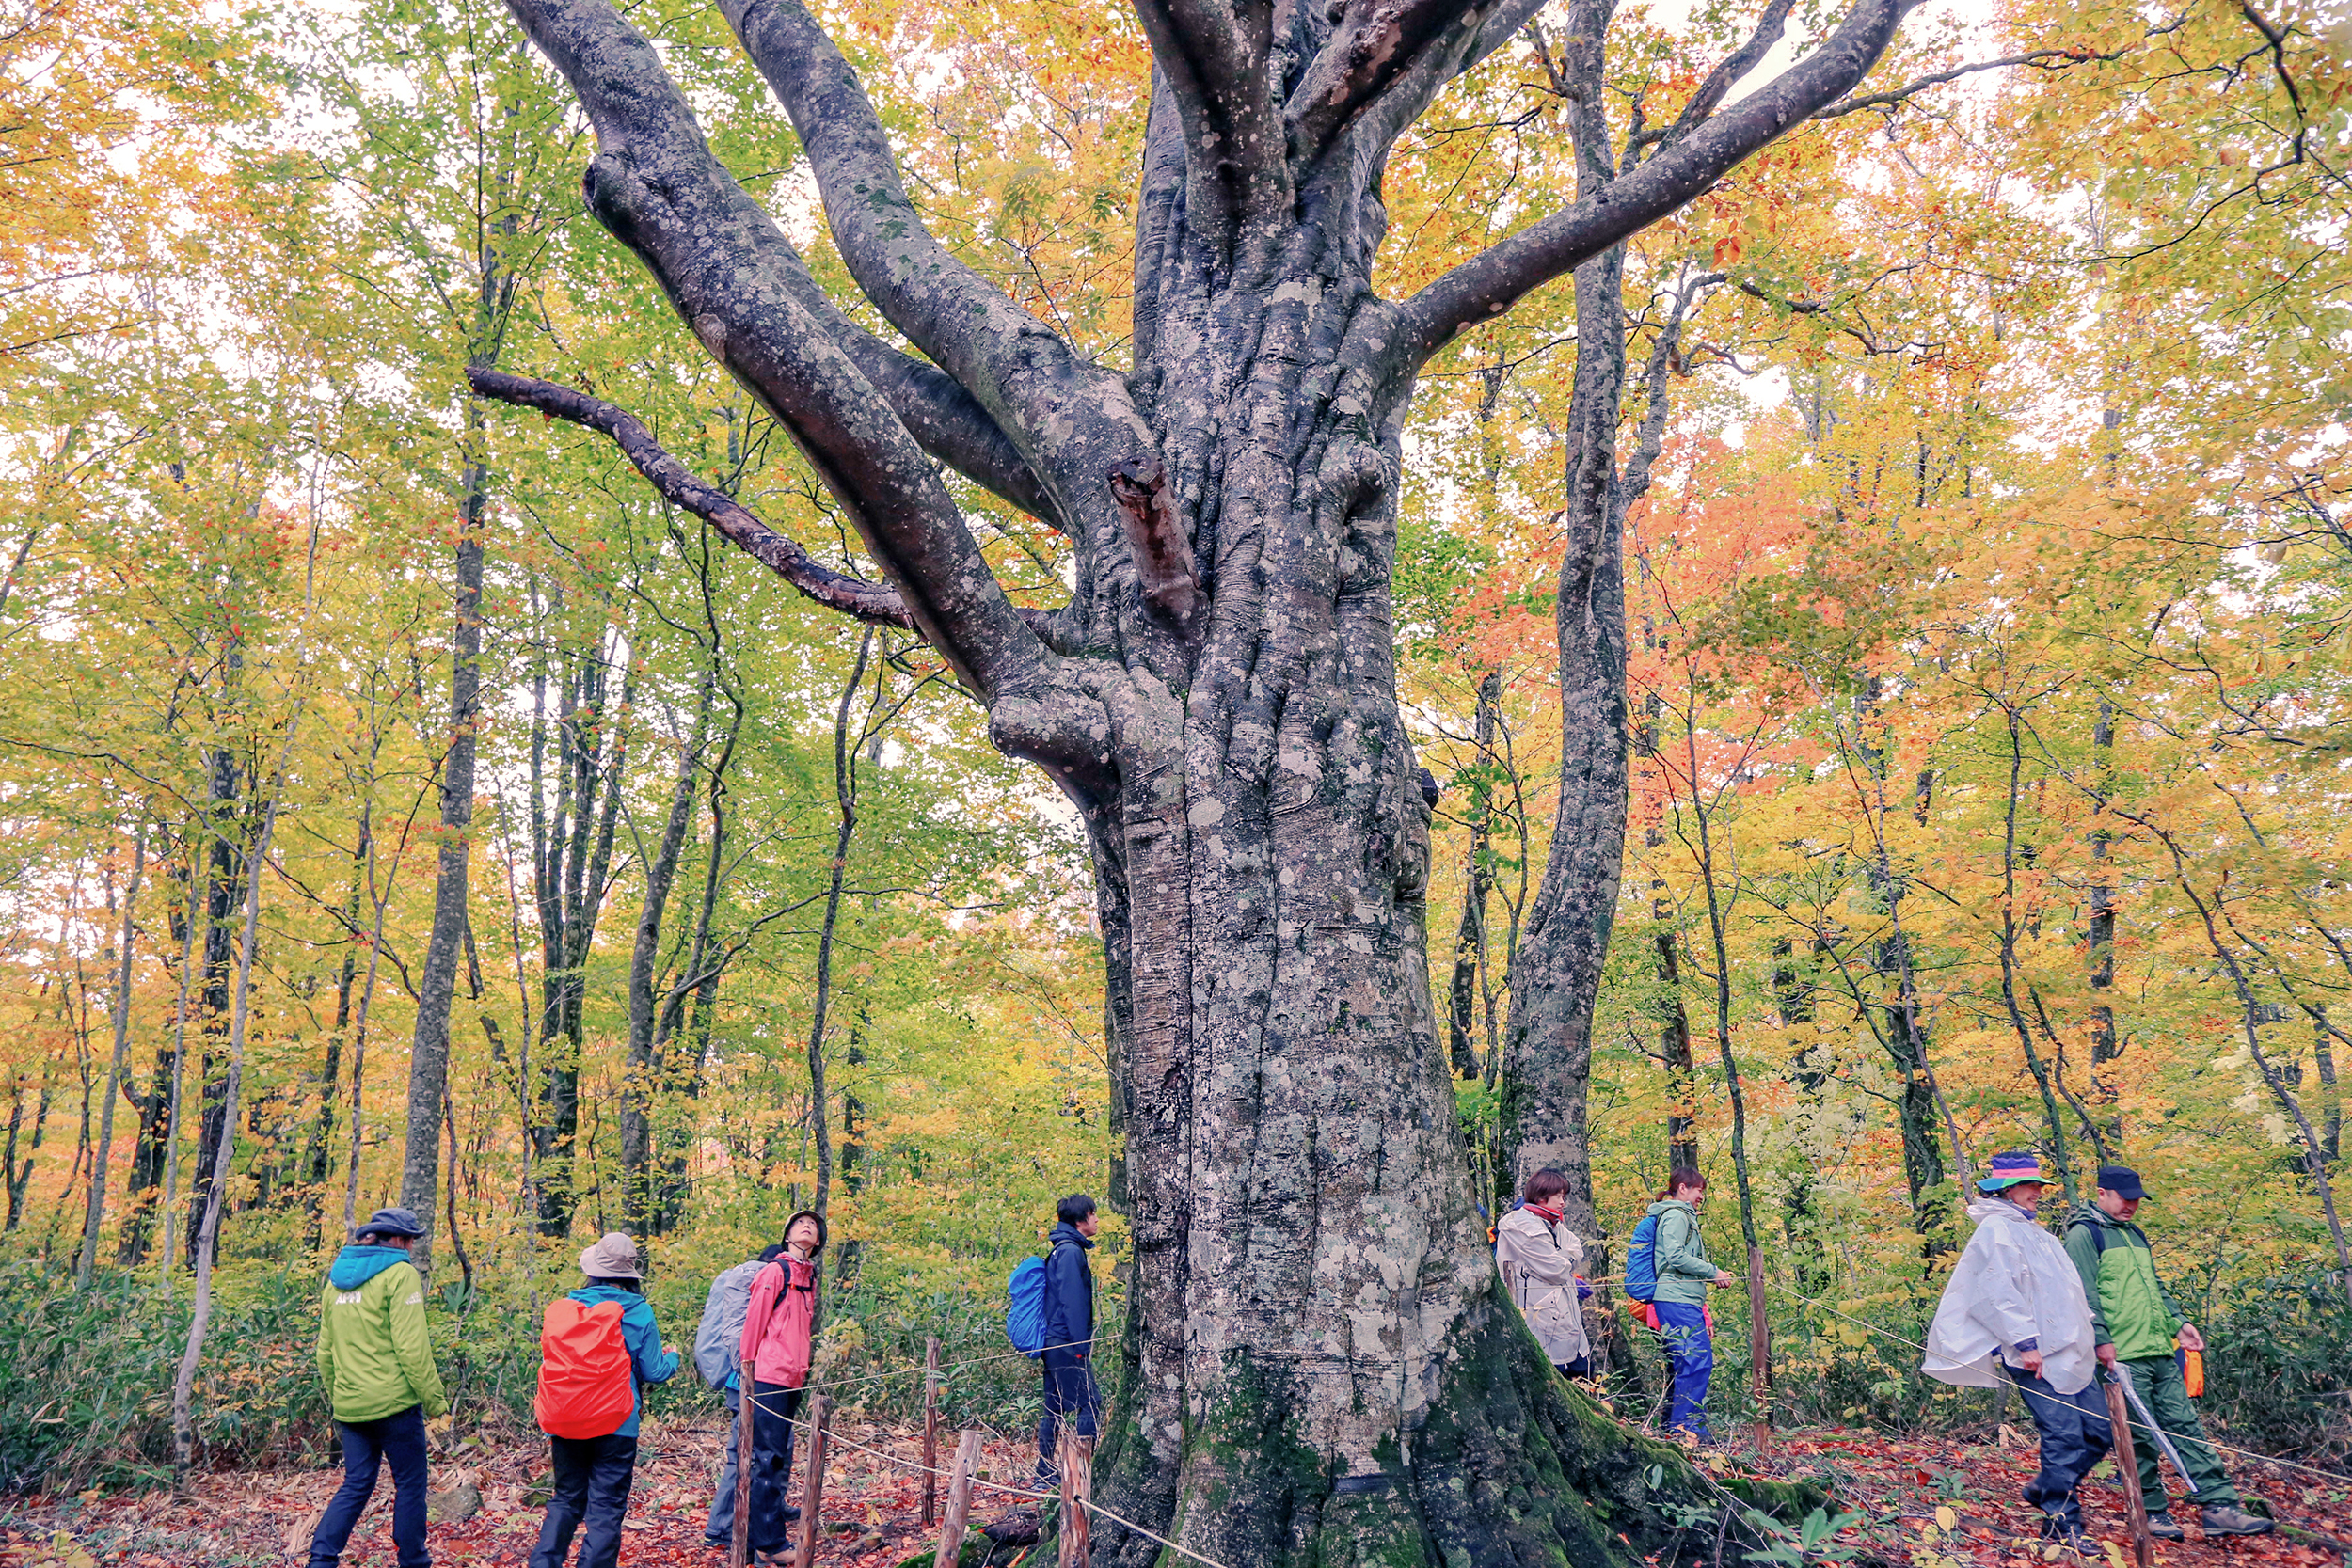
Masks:
[[[983,698],[1042,679],[1044,646],[929,458],[800,301],[800,254],[710,155],[654,47],[607,0],[508,0],[508,9],[595,125],[588,209],[800,444],[915,628]]]

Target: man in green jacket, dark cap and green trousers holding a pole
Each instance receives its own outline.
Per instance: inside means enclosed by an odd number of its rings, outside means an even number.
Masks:
[[[2098,1199],[2077,1204],[2067,1222],[2065,1251],[2082,1274],[2082,1293],[2091,1300],[2091,1333],[2098,1363],[2131,1380],[2140,1403],[2173,1441],[2187,1481],[2197,1488],[2206,1535],[2265,1535],[2274,1526],[2241,1507],[2230,1472],[2220,1467],[2204,1441],[2197,1406],[2180,1382],[2173,1340],[2183,1349],[2204,1349],[2204,1335],[2180,1316],[2164,1281],[2157,1279],[2157,1253],[2147,1232],[2131,1222],[2147,1190],[2131,1166],[2098,1168]],[[2140,1495],[2147,1497],[2147,1530],[2159,1540],[2183,1540],[2164,1497],[2164,1472],[2157,1467],[2157,1439],[2138,1432],[2133,1415],[2133,1458],[2140,1462]]]

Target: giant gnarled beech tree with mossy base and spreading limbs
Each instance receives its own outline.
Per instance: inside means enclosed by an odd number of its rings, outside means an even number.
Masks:
[[[607,0],[510,7],[595,127],[588,209],[793,433],[889,581],[816,564],[609,404],[501,371],[473,386],[602,428],[811,597],[922,632],[995,743],[1084,816],[1136,1248],[1098,1495],[1235,1568],[1658,1544],[1653,1455],[1559,1392],[1496,1291],[1456,1131],[1430,799],[1395,693],[1399,430],[1435,350],[1851,92],[1910,0],[1856,0],[1724,108],[1780,33],[1790,0],[1769,0],[1637,167],[1402,301],[1371,289],[1388,153],[1541,0],[1138,0],[1157,73],[1127,369],[927,230],[800,0],[722,12],[913,353],[823,294]],[[1576,0],[1555,31],[1592,106],[1609,12]],[[1014,607],[938,463],[1068,536],[1065,607]],[[1105,1526],[1105,1561],[1160,1554]]]

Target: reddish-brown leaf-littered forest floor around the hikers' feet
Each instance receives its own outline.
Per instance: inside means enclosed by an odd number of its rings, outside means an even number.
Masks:
[[[816,1554],[823,1568],[882,1568],[936,1540],[920,1523],[922,1476],[908,1465],[920,1458],[920,1434],[901,1427],[842,1422],[826,1465],[826,1535]],[[715,1422],[670,1422],[644,1439],[644,1462],[630,1495],[623,1566],[720,1568],[724,1552],[703,1544],[710,1476],[724,1429]],[[880,1450],[880,1453],[861,1453]],[[898,1465],[880,1458],[901,1460]],[[1802,1429],[1776,1432],[1771,1453],[1757,1460],[1743,1448],[1708,1455],[1710,1469],[1740,1465],[1764,1474],[1809,1474],[1837,1486],[1839,1505],[1863,1516],[1828,1552],[1806,1549],[1806,1561],[1910,1563],[1912,1568],[2030,1568],[2037,1563],[2032,1512],[2018,1488],[2032,1474],[2032,1434],[1999,1434],[1999,1441],[1886,1436],[1879,1432]],[[1007,1483],[1023,1479],[1033,1450],[1004,1436],[983,1448],[981,1476]],[[80,1493],[0,1505],[0,1568],[282,1568],[301,1561],[341,1472],[226,1472],[195,1481],[186,1497],[167,1493]],[[435,1490],[473,1483],[482,1507],[461,1523],[430,1528],[433,1559],[442,1566],[499,1563],[520,1568],[539,1535],[539,1500],[546,1450],[536,1443],[489,1446],[463,1458],[435,1458]],[[797,1476],[795,1476],[797,1479]],[[2352,1537],[2352,1479],[2324,1481],[2284,1467],[2239,1469],[2239,1486],[2270,1505],[2291,1526],[2277,1535],[2201,1540],[2194,1509],[2178,1516],[2187,1542],[2157,1542],[2159,1568],[2336,1568],[2345,1561],[2333,1542]],[[2124,1526],[2124,1493],[2103,1467],[2084,1488],[2089,1530],[2117,1542],[2098,1568],[2124,1568],[2131,1547]],[[1004,1490],[974,1495],[974,1526],[1016,1507]],[[390,1476],[343,1554],[348,1568],[393,1568]],[[1950,1509],[1938,1523],[1938,1509]],[[1950,1526],[1950,1528],[1947,1528]],[[1792,1542],[1795,1544],[1795,1542]],[[1705,1556],[1703,1542],[1696,1556]]]

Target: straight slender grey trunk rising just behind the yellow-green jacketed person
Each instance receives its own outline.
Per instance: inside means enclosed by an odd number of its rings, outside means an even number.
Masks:
[[[485,275],[485,287],[489,287]],[[466,404],[473,435],[480,409]],[[466,940],[468,872],[473,867],[473,752],[482,726],[482,512],[489,508],[489,465],[466,461],[466,491],[456,536],[456,628],[449,637],[449,748],[442,755],[440,875],[433,884],[433,936],[416,987],[416,1034],[409,1048],[407,1147],[400,1159],[400,1206],[423,1222],[409,1248],[416,1272],[433,1276],[433,1197],[440,1190],[440,1128],[449,1100],[449,1004]]]

